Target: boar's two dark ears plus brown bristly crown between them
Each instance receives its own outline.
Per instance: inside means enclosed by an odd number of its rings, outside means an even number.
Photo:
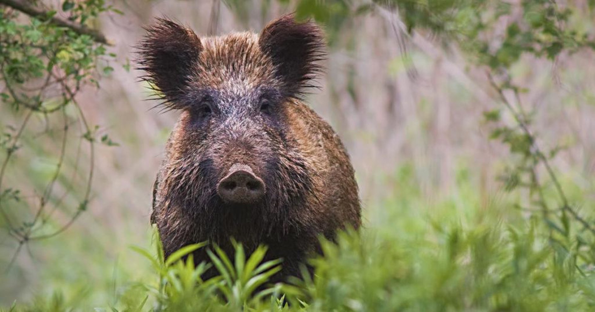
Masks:
[[[322,71],[317,62],[326,56],[317,24],[297,22],[293,14],[271,21],[259,37],[234,33],[201,42],[192,30],[162,18],[146,31],[137,46],[137,69],[146,72],[139,78],[162,100],[156,107],[166,111],[186,108],[197,86],[226,81],[230,71],[263,83],[272,78],[284,97],[303,99]]]

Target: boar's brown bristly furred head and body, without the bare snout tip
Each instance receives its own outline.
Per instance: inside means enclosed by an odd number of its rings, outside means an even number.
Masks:
[[[199,38],[168,20],[140,43],[143,78],[179,109],[154,188],[151,222],[165,255],[187,244],[229,238],[248,251],[269,246],[283,258],[277,276],[299,274],[318,235],[333,239],[358,228],[361,207],[349,157],[337,134],[302,102],[320,72],[322,34],[312,22],[284,15],[255,33]],[[261,201],[229,204],[218,182],[234,164],[264,181]],[[205,251],[196,261],[208,260]]]

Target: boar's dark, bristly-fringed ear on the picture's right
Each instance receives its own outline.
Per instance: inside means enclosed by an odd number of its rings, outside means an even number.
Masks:
[[[324,59],[324,40],[312,21],[299,23],[293,14],[283,15],[264,27],[258,45],[273,59],[287,96],[302,97],[322,70],[316,62]]]

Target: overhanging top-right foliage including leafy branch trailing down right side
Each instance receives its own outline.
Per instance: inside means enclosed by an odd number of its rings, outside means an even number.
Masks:
[[[337,1],[311,6],[316,17],[320,7]],[[497,93],[496,101],[505,111],[493,109],[484,114],[494,125],[490,139],[500,140],[512,155],[503,182],[507,191],[527,190],[526,204],[519,209],[543,221],[549,228],[547,241],[560,253],[568,254],[572,270],[584,274],[595,262],[595,226],[590,216],[583,216],[569,200],[558,172],[551,165],[563,146],[553,143],[543,149],[538,135],[531,131],[536,112],[522,104],[520,86],[511,77],[513,65],[522,57],[555,60],[560,54],[571,55],[581,49],[593,51],[593,30],[581,30],[576,21],[593,18],[577,5],[550,0],[523,0],[518,3],[473,0],[379,0],[381,8],[397,12],[409,34],[430,31],[456,45],[469,59],[469,65],[483,68],[489,86]],[[323,5],[324,4],[324,5]],[[592,5],[592,3],[588,4]],[[359,8],[355,8],[355,12]],[[547,196],[546,193],[553,196]]]

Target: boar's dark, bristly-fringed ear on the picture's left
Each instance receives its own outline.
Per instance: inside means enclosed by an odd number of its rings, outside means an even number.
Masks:
[[[168,108],[182,108],[181,97],[198,63],[201,39],[192,30],[162,18],[146,31],[138,46],[137,69],[147,74],[140,78],[161,91]]]

